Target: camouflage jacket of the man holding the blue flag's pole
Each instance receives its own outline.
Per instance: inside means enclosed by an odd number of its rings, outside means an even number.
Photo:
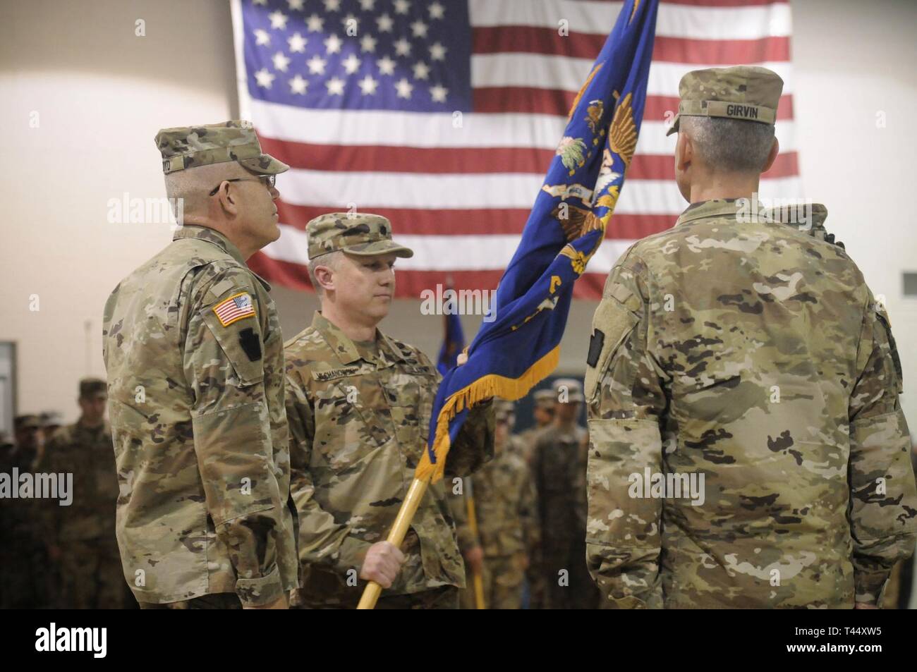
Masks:
[[[357,344],[316,313],[286,344],[293,500],[299,512],[299,606],[356,606],[359,567],[384,541],[426,446],[440,375],[422,352],[377,331]],[[447,457],[464,475],[493,455],[492,404],[472,409]],[[444,479],[431,485],[402,545],[391,595],[464,585]],[[418,595],[417,600],[425,600]]]

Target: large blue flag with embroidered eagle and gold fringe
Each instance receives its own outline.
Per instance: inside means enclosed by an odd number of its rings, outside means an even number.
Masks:
[[[646,103],[657,0],[628,0],[573,100],[568,124],[503,273],[492,322],[469,360],[436,392],[417,479],[441,479],[468,408],[492,396],[520,399],[558,365],[573,284],[605,236]]]

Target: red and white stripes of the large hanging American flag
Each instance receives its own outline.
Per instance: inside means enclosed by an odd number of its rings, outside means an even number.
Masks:
[[[563,135],[569,105],[622,3],[470,0],[473,113],[308,110],[249,98],[238,63],[239,103],[264,151],[290,164],[279,176],[282,237],[249,259],[271,281],[309,287],[304,228],[322,213],[385,215],[414,249],[398,260],[398,295],[416,297],[447,278],[492,289],[513,256],[529,209]],[[238,12],[236,13],[238,14]],[[241,36],[236,17],[237,59]],[[558,35],[558,21],[569,36]],[[672,226],[686,204],[674,182],[676,135],[666,137],[685,72],[764,65],[784,80],[781,154],[762,197],[801,197],[793,126],[787,0],[668,0],[660,4],[646,113],[607,239],[574,295],[597,299],[615,259],[635,239]]]

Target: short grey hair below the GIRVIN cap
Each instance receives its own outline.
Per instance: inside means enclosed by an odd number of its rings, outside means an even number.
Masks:
[[[679,132],[691,138],[701,160],[716,171],[761,172],[774,144],[774,127],[719,116],[683,116]]]

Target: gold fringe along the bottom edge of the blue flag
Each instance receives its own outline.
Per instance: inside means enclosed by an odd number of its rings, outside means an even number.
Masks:
[[[436,464],[430,461],[428,450],[424,450],[420,463],[414,470],[414,478],[420,480],[443,478],[446,470],[446,456],[449,452],[449,422],[461,413],[466,407],[470,408],[490,397],[501,397],[510,402],[522,399],[528,391],[538,382],[545,380],[551,371],[557,369],[560,361],[560,346],[553,347],[547,355],[538,359],[535,364],[525,370],[519,378],[506,378],[495,373],[472,382],[468,387],[454,392],[443,404],[439,416],[436,418],[436,436],[433,440],[433,453],[436,455]]]

